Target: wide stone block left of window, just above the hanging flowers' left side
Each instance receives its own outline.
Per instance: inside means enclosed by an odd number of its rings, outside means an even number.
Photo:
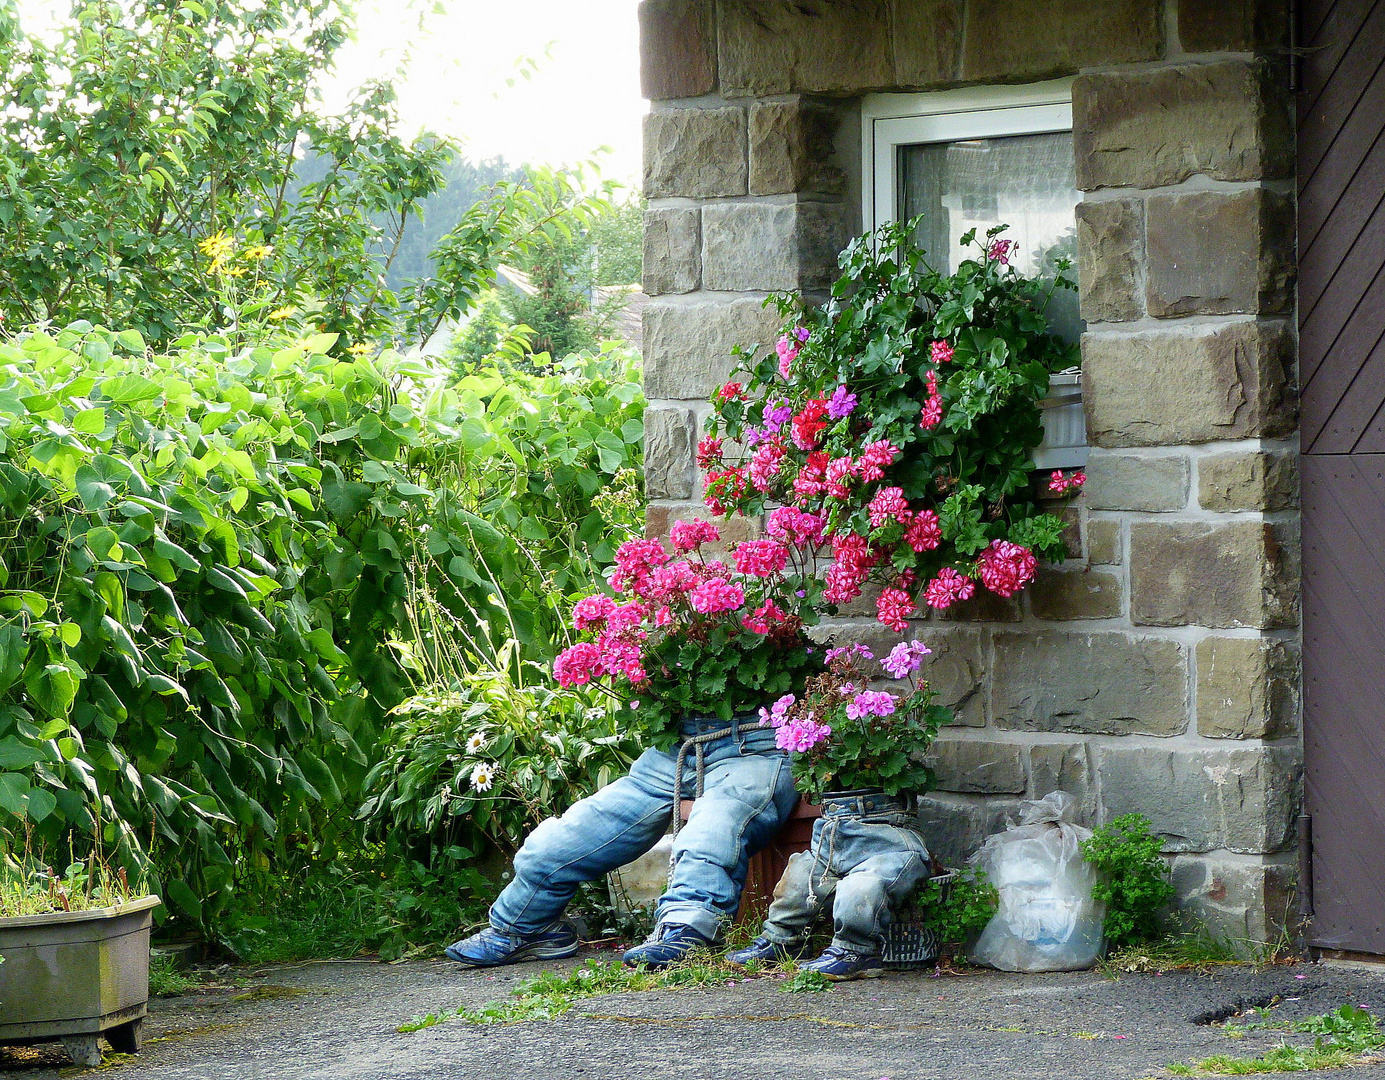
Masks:
[[[720,202],[702,209],[702,287],[726,292],[812,289],[837,277],[849,240],[831,202]]]

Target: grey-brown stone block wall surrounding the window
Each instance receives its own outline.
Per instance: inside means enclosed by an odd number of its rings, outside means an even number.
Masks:
[[[1084,496],[1019,602],[917,624],[957,723],[922,814],[963,858],[1055,786],[1147,814],[1180,903],[1266,939],[1299,806],[1292,120],[1283,4],[645,0],[650,530],[774,289],[859,231],[859,97],[1076,75]],[[752,523],[742,523],[749,532]],[[888,648],[864,616],[839,637]]]

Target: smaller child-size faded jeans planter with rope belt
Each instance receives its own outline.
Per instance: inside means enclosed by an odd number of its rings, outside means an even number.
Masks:
[[[832,908],[832,944],[878,955],[899,907],[927,876],[928,846],[907,802],[878,795],[824,799],[813,842],[789,856],[762,935],[792,948]]]

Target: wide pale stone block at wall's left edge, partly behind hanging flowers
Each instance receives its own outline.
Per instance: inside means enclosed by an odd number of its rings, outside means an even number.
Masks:
[[[644,393],[706,400],[731,371],[731,349],[769,345],[778,328],[778,313],[759,298],[650,300],[644,306]]]

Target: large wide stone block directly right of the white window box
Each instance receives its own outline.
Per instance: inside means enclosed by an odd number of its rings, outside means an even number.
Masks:
[[[1294,429],[1285,323],[1191,324],[1082,335],[1094,446],[1181,446]]]

